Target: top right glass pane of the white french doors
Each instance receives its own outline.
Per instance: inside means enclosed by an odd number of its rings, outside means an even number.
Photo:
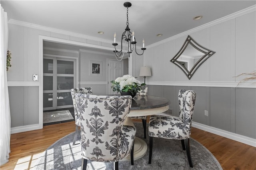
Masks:
[[[57,60],[57,74],[74,74],[74,62]]]

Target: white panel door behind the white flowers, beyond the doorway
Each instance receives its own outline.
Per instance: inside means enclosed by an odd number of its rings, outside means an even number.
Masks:
[[[108,94],[117,94],[117,92],[113,92],[111,86],[112,83],[110,81],[115,80],[118,77],[124,75],[124,62],[117,60],[108,59]]]

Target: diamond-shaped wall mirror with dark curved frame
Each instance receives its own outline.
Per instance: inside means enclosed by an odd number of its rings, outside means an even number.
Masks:
[[[199,45],[188,35],[180,51],[170,60],[179,66],[190,79],[197,68],[215,52]]]

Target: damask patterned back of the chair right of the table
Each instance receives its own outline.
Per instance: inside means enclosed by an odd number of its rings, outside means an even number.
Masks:
[[[180,104],[179,118],[190,129],[196,102],[196,92],[193,90],[179,90],[178,99]]]

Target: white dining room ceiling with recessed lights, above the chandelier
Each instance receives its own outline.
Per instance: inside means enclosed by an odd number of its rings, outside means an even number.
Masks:
[[[117,41],[126,27],[125,0],[1,0],[8,19]],[[256,4],[255,0],[130,0],[129,27],[142,46],[217,20]],[[201,20],[193,20],[203,16]],[[98,34],[103,31],[104,34]],[[156,37],[157,34],[162,37]]]

